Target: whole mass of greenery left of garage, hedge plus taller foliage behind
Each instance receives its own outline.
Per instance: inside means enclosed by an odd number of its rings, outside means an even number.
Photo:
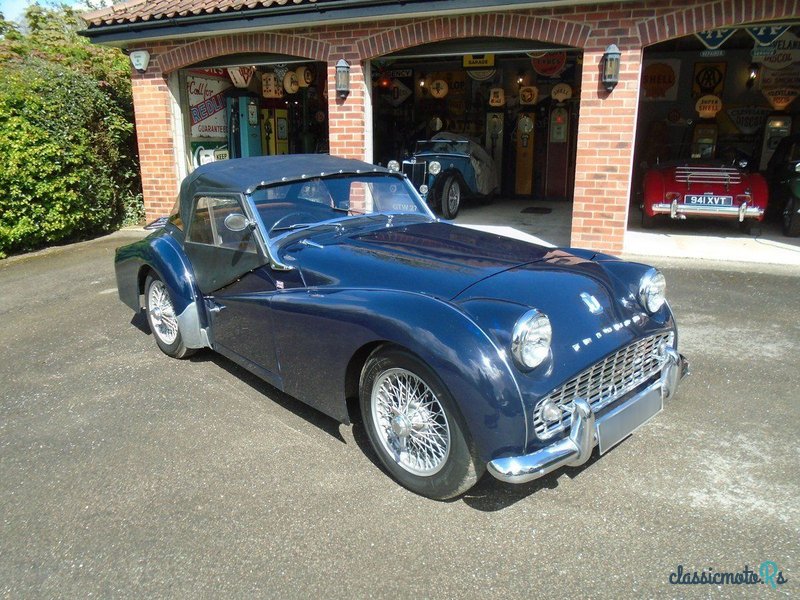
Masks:
[[[0,16],[0,258],[142,219],[129,64],[66,6]]]

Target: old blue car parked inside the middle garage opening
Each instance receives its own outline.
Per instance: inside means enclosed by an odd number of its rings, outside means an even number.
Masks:
[[[402,170],[428,205],[445,219],[455,219],[465,198],[490,198],[499,187],[494,161],[471,139],[439,133],[417,142],[414,154],[389,161]]]

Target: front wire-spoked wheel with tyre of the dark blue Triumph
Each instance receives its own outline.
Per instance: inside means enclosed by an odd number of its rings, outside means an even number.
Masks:
[[[374,352],[361,374],[361,413],[389,473],[417,494],[444,500],[480,479],[485,465],[439,378],[400,349]]]

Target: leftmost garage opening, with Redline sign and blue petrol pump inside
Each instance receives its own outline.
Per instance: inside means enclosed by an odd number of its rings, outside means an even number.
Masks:
[[[188,170],[214,160],[328,151],[325,63],[238,54],[177,75]]]

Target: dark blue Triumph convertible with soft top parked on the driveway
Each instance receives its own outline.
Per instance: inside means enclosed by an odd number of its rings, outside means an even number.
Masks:
[[[166,354],[212,348],[363,420],[387,471],[432,498],[580,465],[686,371],[657,270],[440,222],[401,174],[353,160],[202,166],[116,273]]]

